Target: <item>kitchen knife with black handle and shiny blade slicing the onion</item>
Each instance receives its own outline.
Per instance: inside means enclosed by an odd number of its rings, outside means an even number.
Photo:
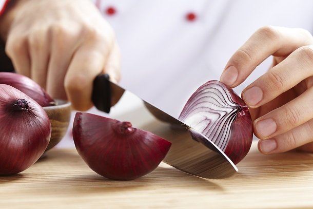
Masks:
[[[141,129],[172,143],[163,160],[165,163],[182,172],[209,179],[227,178],[238,172],[236,165],[203,134],[111,82],[108,74],[100,74],[94,79],[91,99],[97,109],[109,113],[112,105],[111,96],[120,97],[125,93],[131,100],[141,101],[140,115],[151,118],[150,123]],[[138,117],[138,114],[131,117]],[[131,122],[131,118],[129,120]]]

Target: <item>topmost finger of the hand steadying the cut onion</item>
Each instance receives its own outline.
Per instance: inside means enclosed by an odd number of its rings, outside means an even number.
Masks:
[[[230,87],[236,87],[268,56],[288,55],[312,42],[312,35],[304,29],[262,27],[231,56],[220,80]]]

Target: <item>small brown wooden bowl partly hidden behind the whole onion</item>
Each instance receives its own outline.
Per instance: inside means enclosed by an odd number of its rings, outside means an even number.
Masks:
[[[55,100],[56,105],[43,107],[50,119],[52,131],[48,151],[57,145],[66,134],[71,118],[71,103],[64,100]]]

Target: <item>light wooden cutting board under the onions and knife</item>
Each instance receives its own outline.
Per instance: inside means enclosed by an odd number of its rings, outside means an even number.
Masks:
[[[0,177],[0,208],[313,208],[313,154],[265,156],[257,143],[228,179],[161,163],[132,181],[94,173],[76,150],[53,148],[21,174]]]

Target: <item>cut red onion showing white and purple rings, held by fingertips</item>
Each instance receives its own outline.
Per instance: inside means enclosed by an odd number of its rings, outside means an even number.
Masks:
[[[252,143],[252,120],[246,104],[220,81],[209,81],[189,98],[179,119],[201,132],[237,164]]]

